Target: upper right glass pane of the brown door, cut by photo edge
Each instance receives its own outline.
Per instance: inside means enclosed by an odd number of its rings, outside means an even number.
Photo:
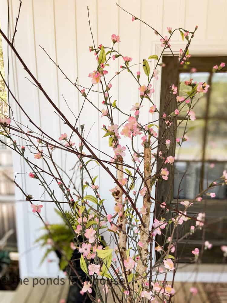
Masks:
[[[210,93],[210,117],[227,117],[227,73],[212,75]]]

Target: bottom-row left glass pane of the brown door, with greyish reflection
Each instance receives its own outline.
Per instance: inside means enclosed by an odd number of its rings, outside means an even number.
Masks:
[[[175,162],[174,199],[177,198],[178,190],[179,199],[194,199],[199,194],[200,170],[201,162]]]

